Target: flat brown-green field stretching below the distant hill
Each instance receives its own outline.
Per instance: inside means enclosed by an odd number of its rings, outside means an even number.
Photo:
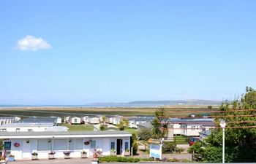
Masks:
[[[89,114],[102,114],[102,115],[123,115],[125,117],[132,116],[154,116],[154,112],[160,108],[86,108],[86,107],[6,107],[0,109],[0,116],[69,116],[69,115],[89,115]],[[203,114],[211,112],[206,106],[171,106],[165,107],[168,116],[188,116],[191,113]]]

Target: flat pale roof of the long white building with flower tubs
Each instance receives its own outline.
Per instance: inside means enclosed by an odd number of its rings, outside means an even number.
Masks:
[[[83,137],[130,137],[127,131],[43,131],[0,132],[0,138],[83,138]]]

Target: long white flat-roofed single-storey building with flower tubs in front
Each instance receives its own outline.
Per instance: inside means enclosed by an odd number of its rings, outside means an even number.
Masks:
[[[70,157],[80,157],[82,151],[92,157],[97,148],[102,155],[110,155],[110,149],[116,149],[116,155],[124,155],[130,149],[131,133],[125,131],[78,131],[78,132],[0,132],[0,138],[7,155],[15,160],[31,160],[31,153],[37,152],[38,159],[48,158],[55,152],[55,158],[64,158],[64,151],[71,151]]]

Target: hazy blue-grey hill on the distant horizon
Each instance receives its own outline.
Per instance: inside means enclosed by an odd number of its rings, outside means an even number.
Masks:
[[[181,101],[130,101],[128,103],[93,103],[86,106],[110,106],[110,107],[155,107],[155,106],[175,106],[175,105],[191,105],[191,106],[206,106],[219,105],[222,101],[208,100],[181,100]]]

